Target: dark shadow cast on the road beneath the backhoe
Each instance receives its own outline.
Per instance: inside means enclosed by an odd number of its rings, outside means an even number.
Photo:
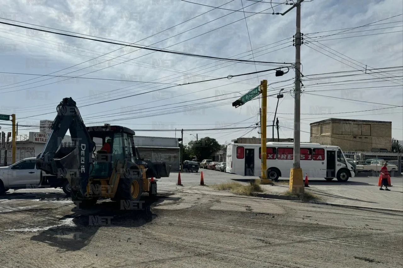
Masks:
[[[91,243],[92,237],[100,228],[138,228],[151,223],[158,216],[154,214],[152,207],[166,198],[168,196],[158,195],[156,198],[144,196],[135,204],[131,202],[131,206],[122,206],[122,202],[110,200],[98,202],[89,209],[80,209],[76,206],[71,209],[71,213],[60,217],[54,226],[32,236],[31,241],[56,247],[58,252],[77,251]],[[134,241],[130,234],[120,238],[122,239],[124,240],[122,242],[126,243],[139,242]]]

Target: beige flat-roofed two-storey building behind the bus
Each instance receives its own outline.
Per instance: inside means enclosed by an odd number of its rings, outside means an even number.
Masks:
[[[392,122],[330,118],[310,126],[310,142],[340,146],[343,151],[391,151]]]

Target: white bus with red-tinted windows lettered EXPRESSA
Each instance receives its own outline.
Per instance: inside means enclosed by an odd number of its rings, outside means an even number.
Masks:
[[[267,142],[267,177],[289,177],[293,167],[293,142]],[[347,162],[339,146],[319,143],[301,143],[301,169],[303,177],[325,178],[331,181],[347,181],[354,177],[353,166]],[[260,144],[237,144],[227,146],[226,172],[242,176],[261,176]]]

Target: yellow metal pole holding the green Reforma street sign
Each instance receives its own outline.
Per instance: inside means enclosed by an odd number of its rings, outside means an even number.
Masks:
[[[260,183],[271,184],[272,181],[267,178],[267,150],[266,150],[266,133],[267,133],[267,80],[262,80],[260,82],[260,90],[262,93],[262,118],[260,127],[262,132],[261,139],[261,159],[262,159],[262,174],[260,176]]]

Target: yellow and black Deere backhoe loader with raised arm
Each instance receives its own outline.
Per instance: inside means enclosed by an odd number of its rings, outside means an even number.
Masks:
[[[57,106],[48,141],[37,158],[39,169],[65,177],[77,206],[94,205],[99,198],[137,202],[141,194],[157,194],[152,178],[169,177],[170,166],[142,159],[134,144],[135,132],[123,126],[86,127],[76,102],[64,98]],[[70,131],[72,146],[62,146]],[[106,144],[96,150],[96,145]]]

